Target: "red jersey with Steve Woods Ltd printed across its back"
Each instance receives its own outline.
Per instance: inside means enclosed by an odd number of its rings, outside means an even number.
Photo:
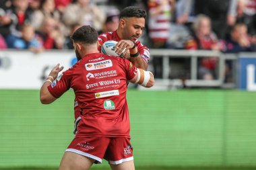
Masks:
[[[128,137],[127,80],[137,68],[127,59],[101,53],[88,54],[65,71],[48,89],[58,98],[69,88],[75,92],[82,118],[76,136]]]

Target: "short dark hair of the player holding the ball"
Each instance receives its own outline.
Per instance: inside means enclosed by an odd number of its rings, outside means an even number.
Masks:
[[[123,17],[143,17],[146,18],[146,11],[135,6],[125,7],[119,15],[119,19]]]

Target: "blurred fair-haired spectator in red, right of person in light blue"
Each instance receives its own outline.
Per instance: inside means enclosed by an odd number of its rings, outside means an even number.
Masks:
[[[57,22],[52,17],[46,17],[39,32],[45,49],[62,49],[64,36],[60,32]]]

